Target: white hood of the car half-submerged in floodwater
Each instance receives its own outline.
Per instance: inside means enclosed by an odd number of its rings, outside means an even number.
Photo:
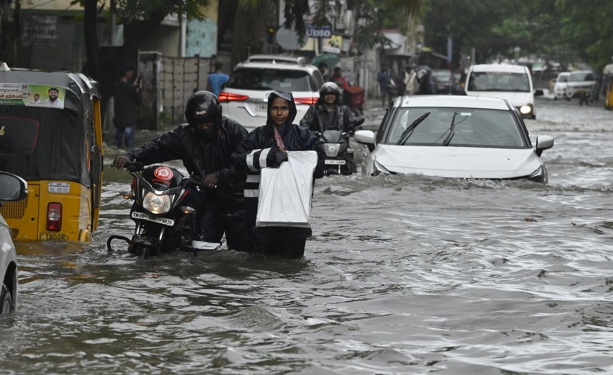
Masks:
[[[378,145],[376,161],[388,171],[452,178],[511,179],[543,163],[533,149]]]

